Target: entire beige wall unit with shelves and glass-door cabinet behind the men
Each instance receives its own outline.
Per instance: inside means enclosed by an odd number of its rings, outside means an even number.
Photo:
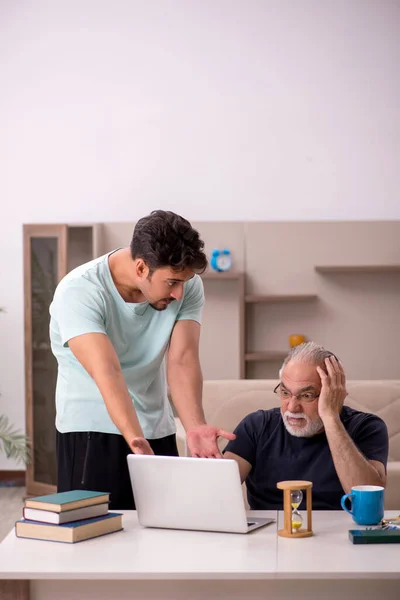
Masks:
[[[297,332],[337,353],[353,379],[396,377],[400,222],[193,225],[208,254],[226,247],[234,259],[232,272],[203,275],[205,379],[275,379]],[[71,269],[128,246],[134,226],[24,227],[26,421],[34,457],[28,494],[56,484],[57,364],[48,332],[54,289]]]

